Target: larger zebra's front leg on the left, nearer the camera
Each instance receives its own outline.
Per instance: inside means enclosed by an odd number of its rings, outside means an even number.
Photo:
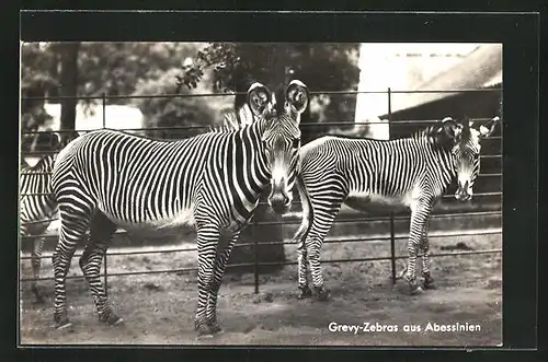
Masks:
[[[210,315],[208,316],[207,306],[209,290],[214,279],[214,266],[219,236],[220,232],[217,225],[209,224],[197,227],[198,306],[194,319],[194,328],[198,331],[198,336],[213,336],[214,334],[210,325],[216,322]]]

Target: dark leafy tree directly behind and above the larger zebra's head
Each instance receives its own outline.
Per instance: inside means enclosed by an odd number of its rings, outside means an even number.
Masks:
[[[210,43],[199,50],[192,65],[182,68],[181,85],[194,87],[208,70],[217,92],[246,92],[253,81],[279,90],[288,79],[299,79],[310,90],[355,90],[358,81],[358,44],[253,44]],[[241,106],[244,96],[237,96]],[[316,100],[315,100],[316,98]],[[326,98],[326,96],[323,96]],[[328,95],[326,120],[352,121],[355,95]],[[311,102],[317,102],[313,95]],[[318,115],[302,115],[302,124],[317,122]],[[302,142],[327,128],[302,128]]]

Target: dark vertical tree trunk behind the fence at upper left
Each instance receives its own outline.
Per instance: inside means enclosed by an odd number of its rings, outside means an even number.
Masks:
[[[76,98],[78,90],[78,50],[80,43],[65,43],[59,45],[61,54],[60,95],[61,98],[61,130],[76,129]],[[65,143],[67,133],[61,135],[61,142]]]

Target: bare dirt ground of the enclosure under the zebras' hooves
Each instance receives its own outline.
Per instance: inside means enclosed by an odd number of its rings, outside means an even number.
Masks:
[[[442,247],[466,245],[472,249],[500,248],[500,234],[431,238],[433,254]],[[189,244],[192,247],[192,244]],[[111,250],[116,252],[116,250]],[[388,256],[389,243],[333,243],[322,248],[322,259]],[[404,255],[404,243],[397,254]],[[286,246],[288,259],[296,259],[294,245]],[[392,287],[389,261],[323,264],[329,302],[297,300],[297,267],[260,277],[254,294],[253,275],[226,275],[218,301],[218,319],[224,332],[198,339],[194,331],[197,303],[196,272],[110,277],[109,296],[122,325],[109,327],[96,318],[93,301],[83,279],[67,282],[72,327],[53,328],[53,281],[41,281],[45,304],[33,303],[30,283],[21,283],[22,345],[297,345],[297,346],[496,346],[502,342],[501,254],[432,258],[437,289],[407,295],[403,282]],[[45,259],[43,277],[53,275]],[[398,269],[403,260],[398,261]],[[110,256],[109,272],[195,267],[196,255],[161,253]],[[32,276],[30,260],[23,260],[23,278]],[[69,275],[80,276],[78,258]],[[397,325],[397,331],[331,331],[330,324],[364,327]],[[425,330],[427,324],[479,325],[473,331]],[[419,325],[421,331],[407,331]],[[342,328],[342,327],[341,327]],[[413,327],[415,328],[415,327]],[[476,327],[478,329],[478,327]]]

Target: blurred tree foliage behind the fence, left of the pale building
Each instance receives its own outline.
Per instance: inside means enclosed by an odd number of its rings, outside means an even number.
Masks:
[[[62,43],[23,44],[23,96],[60,95],[62,47]],[[220,119],[218,107],[226,108],[227,100],[119,96],[173,93],[180,75],[174,69],[181,68],[184,71],[180,83],[185,86],[179,91],[184,94],[197,89],[202,93],[246,92],[251,81],[261,81],[275,90],[289,78],[302,80],[312,91],[352,90],[358,80],[356,51],[357,44],[81,43],[77,93],[104,93],[107,104],[136,104],[150,117],[149,126],[215,126],[216,119]],[[194,61],[183,66],[189,57]],[[240,96],[242,100],[244,95]],[[312,109],[315,117],[302,121],[351,119],[354,102],[352,96],[315,95],[312,104],[318,112]],[[23,102],[24,130],[47,120],[43,102]]]

